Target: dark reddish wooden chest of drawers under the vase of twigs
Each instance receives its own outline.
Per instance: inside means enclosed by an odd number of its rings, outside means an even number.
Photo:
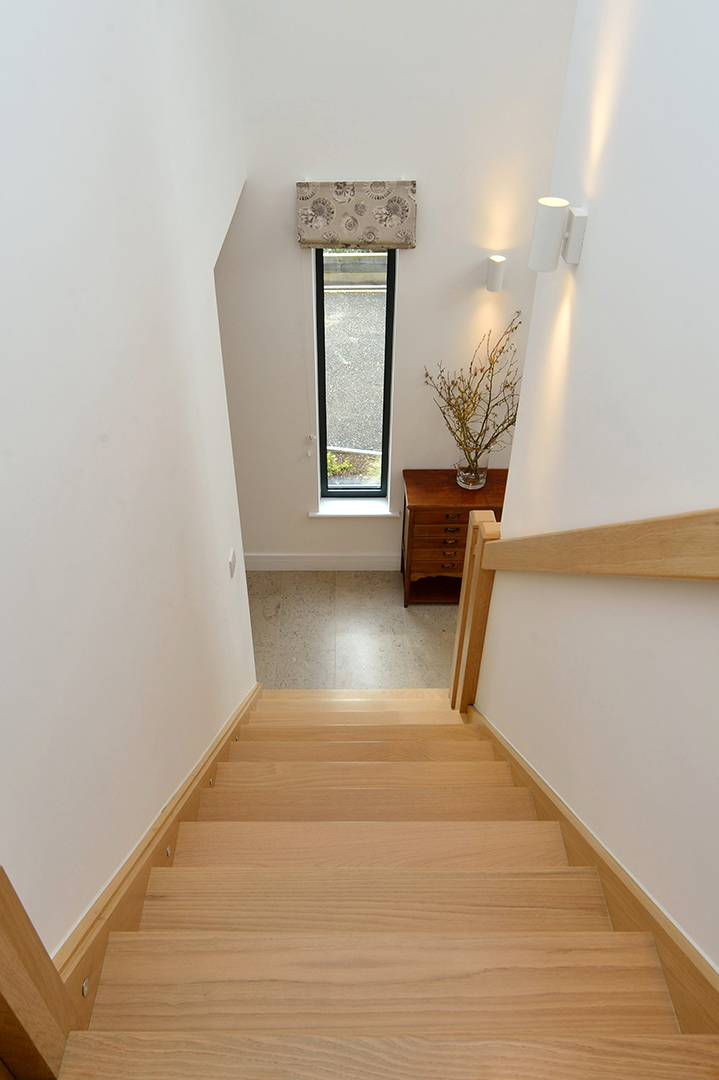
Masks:
[[[408,604],[457,604],[472,510],[502,516],[506,469],[490,469],[478,491],[465,491],[453,469],[406,469],[402,572]]]

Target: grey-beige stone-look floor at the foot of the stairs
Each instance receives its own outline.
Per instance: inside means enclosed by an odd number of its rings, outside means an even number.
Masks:
[[[257,678],[268,689],[449,685],[456,604],[403,604],[391,571],[247,573]]]

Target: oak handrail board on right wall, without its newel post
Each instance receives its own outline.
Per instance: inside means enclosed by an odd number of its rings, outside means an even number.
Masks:
[[[485,544],[486,570],[719,579],[719,509],[513,537]]]

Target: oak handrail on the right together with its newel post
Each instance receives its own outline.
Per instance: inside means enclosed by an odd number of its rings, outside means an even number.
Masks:
[[[719,581],[719,509],[507,540],[491,512],[473,511],[449,688],[451,707],[462,713],[479,677],[497,570]]]

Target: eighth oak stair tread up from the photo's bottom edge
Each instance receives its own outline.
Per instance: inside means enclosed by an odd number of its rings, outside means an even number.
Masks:
[[[287,720],[277,724],[245,724],[240,732],[240,741],[271,741],[288,740],[289,742],[377,742],[386,740],[397,742],[411,740],[416,742],[418,737],[425,739],[450,739],[475,743],[479,741],[479,734],[475,728],[466,724],[425,724],[420,729],[409,724],[327,724],[327,725],[303,725],[298,724],[293,727]]]

